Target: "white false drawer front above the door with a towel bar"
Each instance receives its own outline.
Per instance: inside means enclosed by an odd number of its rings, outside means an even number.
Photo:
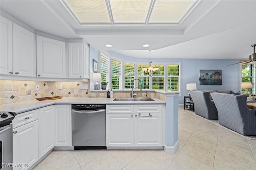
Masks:
[[[161,104],[135,104],[134,113],[162,113]]]

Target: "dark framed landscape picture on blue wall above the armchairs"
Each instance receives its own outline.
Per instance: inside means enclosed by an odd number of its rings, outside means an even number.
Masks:
[[[199,85],[222,85],[222,70],[199,70]]]

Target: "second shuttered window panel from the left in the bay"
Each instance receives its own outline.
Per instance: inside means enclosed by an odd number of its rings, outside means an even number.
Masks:
[[[121,62],[111,59],[111,87],[112,89],[121,89]]]

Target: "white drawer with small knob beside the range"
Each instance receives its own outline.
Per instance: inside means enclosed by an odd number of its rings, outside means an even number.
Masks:
[[[25,125],[37,119],[38,119],[38,109],[20,113],[16,115],[15,118],[13,119],[12,128],[14,129],[16,127]]]

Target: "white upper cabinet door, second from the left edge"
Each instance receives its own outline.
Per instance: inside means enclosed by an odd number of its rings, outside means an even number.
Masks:
[[[13,75],[36,77],[36,35],[13,23]]]

